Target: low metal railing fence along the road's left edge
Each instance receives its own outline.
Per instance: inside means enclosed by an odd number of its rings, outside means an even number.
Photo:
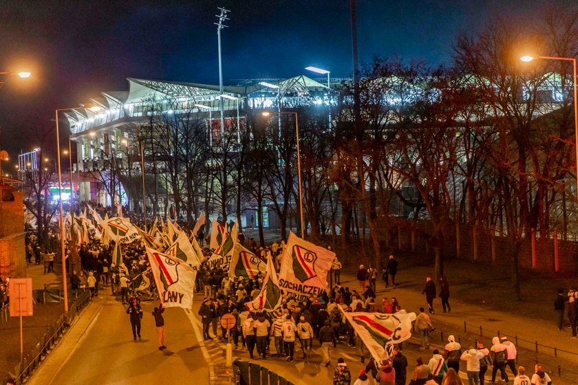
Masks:
[[[82,292],[76,296],[74,302],[69,308],[69,311],[62,314],[53,327],[44,334],[42,341],[38,342],[32,351],[26,354],[21,362],[14,366],[14,373],[9,376],[14,379],[15,385],[23,384],[23,381],[32,375],[36,367],[39,366],[45,355],[50,353],[52,348],[58,343],[61,336],[65,333],[65,329],[70,325],[72,320],[78,314],[78,311],[85,307],[90,300],[89,292]]]

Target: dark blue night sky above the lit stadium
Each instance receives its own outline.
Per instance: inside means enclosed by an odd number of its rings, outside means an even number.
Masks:
[[[496,15],[536,14],[540,4],[358,0],[359,58],[448,63],[456,34],[474,34]],[[231,10],[222,31],[225,84],[306,74],[308,65],[352,74],[347,0],[0,0],[0,71],[33,72],[3,77],[0,146],[15,159],[36,144],[38,127],[54,126],[54,109],[127,90],[127,77],[218,84],[218,6]]]

